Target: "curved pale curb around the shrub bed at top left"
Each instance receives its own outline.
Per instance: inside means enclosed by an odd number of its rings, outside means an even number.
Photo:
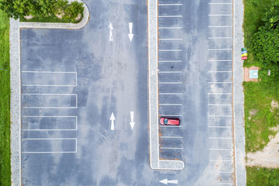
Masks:
[[[81,0],[69,0],[83,2]],[[52,23],[52,22],[20,22],[20,28],[36,28],[36,29],[81,29],[89,21],[89,9],[84,3],[84,17],[82,21],[77,24],[74,23]]]

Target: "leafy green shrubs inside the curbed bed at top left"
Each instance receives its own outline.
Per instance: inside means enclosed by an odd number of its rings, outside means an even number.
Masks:
[[[51,17],[62,15],[62,20],[75,22],[78,14],[83,13],[83,3],[67,0],[0,0],[0,8],[10,17],[18,19],[27,15]]]

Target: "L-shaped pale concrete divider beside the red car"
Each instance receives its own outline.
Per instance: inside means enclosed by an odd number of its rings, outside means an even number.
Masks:
[[[158,130],[158,0],[148,1],[149,132],[151,169],[181,170],[180,160],[160,160]]]

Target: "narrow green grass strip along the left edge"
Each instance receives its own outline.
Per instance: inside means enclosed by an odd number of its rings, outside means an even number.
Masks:
[[[0,185],[10,185],[9,18],[0,10]]]

